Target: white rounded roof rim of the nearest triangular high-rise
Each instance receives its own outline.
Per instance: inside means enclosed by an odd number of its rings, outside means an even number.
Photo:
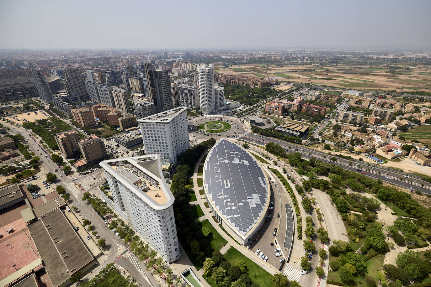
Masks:
[[[147,157],[155,157],[157,160],[157,166],[159,167],[159,173],[162,175],[162,167],[161,167],[161,158],[159,154],[147,154],[147,155],[141,155],[137,157],[122,157],[122,158],[115,158],[111,160],[103,160],[99,163],[103,169],[107,170],[111,174],[115,174],[115,177],[119,179],[119,181],[127,186],[131,191],[133,191],[134,194],[136,194],[139,198],[141,198],[143,201],[145,201],[151,208],[154,210],[165,210],[174,204],[175,198],[172,194],[171,190],[168,188],[168,185],[166,185],[166,182],[159,178],[159,176],[156,176],[155,174],[151,173],[149,170],[146,170],[144,167],[141,167],[139,165],[139,159],[147,158]],[[158,204],[156,201],[153,200],[153,198],[150,198],[144,191],[137,188],[133,183],[131,183],[128,179],[126,179],[121,173],[114,170],[109,163],[117,162],[117,161],[127,161],[130,164],[132,164],[135,168],[142,170],[143,172],[147,173],[151,178],[155,179],[157,182],[159,182],[160,188],[162,192],[166,196],[166,203],[165,204]]]

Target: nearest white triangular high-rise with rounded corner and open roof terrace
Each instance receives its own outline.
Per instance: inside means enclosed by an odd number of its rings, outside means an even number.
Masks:
[[[167,262],[180,256],[174,196],[163,178],[159,154],[103,160],[109,203]]]

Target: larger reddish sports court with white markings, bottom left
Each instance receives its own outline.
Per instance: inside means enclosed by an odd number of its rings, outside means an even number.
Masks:
[[[0,240],[0,280],[39,258],[29,233],[27,228],[20,229]]]

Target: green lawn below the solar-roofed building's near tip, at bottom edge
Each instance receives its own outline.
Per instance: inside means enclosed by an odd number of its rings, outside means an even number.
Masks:
[[[272,285],[272,275],[265,271],[262,267],[257,265],[255,262],[248,259],[234,247],[229,248],[225,253],[225,259],[232,265],[236,265],[241,260],[247,265],[247,274],[250,276],[253,283],[259,286],[271,287]]]

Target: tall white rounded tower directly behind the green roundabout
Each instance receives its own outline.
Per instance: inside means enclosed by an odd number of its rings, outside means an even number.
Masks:
[[[198,69],[199,102],[203,114],[211,114],[215,106],[214,65],[200,65]]]

